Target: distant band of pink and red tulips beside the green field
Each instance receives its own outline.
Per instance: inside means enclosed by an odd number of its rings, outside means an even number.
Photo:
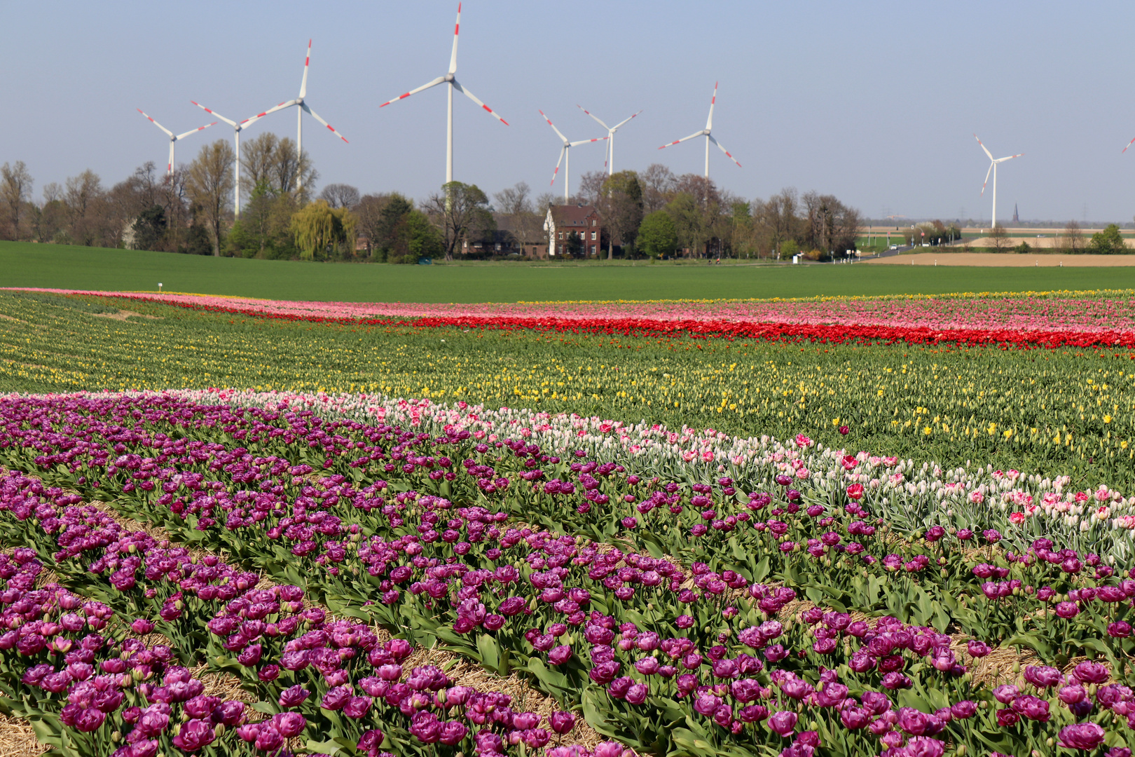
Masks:
[[[745,303],[662,309],[625,305],[548,308],[531,305],[354,305],[261,301],[205,295],[153,295],[37,289],[153,301],[193,310],[266,319],[362,326],[511,329],[623,336],[717,337],[825,344],[1016,345],[1135,347],[1129,298],[992,301],[841,301],[839,303]],[[722,312],[724,310],[724,312]],[[641,311],[641,312],[638,312]]]

